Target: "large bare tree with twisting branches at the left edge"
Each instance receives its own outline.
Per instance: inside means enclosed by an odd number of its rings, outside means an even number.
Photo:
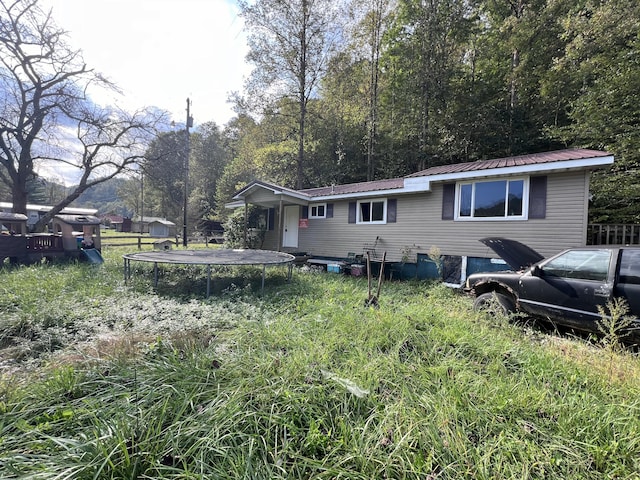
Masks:
[[[117,90],[66,37],[39,0],[0,0],[0,181],[11,189],[14,212],[26,213],[27,182],[41,167],[71,167],[78,178],[36,230],[142,158],[164,119],[161,112],[131,114],[92,102],[93,88]]]

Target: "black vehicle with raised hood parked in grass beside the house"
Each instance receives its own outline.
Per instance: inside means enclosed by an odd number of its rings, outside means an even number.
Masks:
[[[497,300],[504,313],[523,312],[579,330],[598,331],[598,307],[607,312],[614,297],[626,299],[636,321],[628,339],[640,342],[640,248],[592,246],[564,250],[550,258],[514,240],[484,238],[513,269],[469,275],[465,291],[474,308]]]

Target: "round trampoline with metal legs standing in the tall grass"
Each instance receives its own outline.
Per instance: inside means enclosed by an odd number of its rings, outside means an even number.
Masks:
[[[158,264],[206,265],[207,298],[211,293],[211,266],[262,265],[261,292],[264,293],[264,278],[267,266],[288,264],[287,279],[291,280],[291,269],[296,257],[284,252],[250,249],[203,249],[203,250],[159,250],[153,252],[128,253],[124,260],[125,283],[131,278],[131,261],[153,263],[153,285],[158,286]]]

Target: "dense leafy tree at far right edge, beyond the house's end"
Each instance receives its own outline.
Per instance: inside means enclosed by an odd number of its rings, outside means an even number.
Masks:
[[[640,222],[640,4],[588,0],[564,18],[569,40],[555,72],[575,92],[568,143],[612,152],[614,166],[593,176],[591,220]]]

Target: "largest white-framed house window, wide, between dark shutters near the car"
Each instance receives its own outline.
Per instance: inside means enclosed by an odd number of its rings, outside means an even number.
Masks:
[[[456,219],[527,219],[528,181],[491,180],[458,184]]]

